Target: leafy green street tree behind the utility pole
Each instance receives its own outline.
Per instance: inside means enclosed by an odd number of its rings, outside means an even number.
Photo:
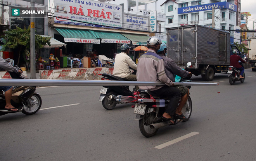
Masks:
[[[30,27],[26,29],[21,29],[16,26],[16,29],[9,29],[8,31],[3,32],[5,35],[2,36],[5,39],[7,39],[5,47],[9,47],[11,49],[18,48],[18,62],[17,66],[19,66],[19,61],[21,58],[21,51],[25,48],[25,51],[29,51],[30,49]],[[38,51],[40,48],[42,48],[45,45],[50,46],[50,37],[42,37],[40,35],[35,36],[35,48]],[[29,54],[28,54],[29,55]]]

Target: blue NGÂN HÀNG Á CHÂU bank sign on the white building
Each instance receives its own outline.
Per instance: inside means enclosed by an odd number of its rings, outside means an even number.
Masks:
[[[218,3],[209,3],[209,4],[205,4],[205,5],[195,5],[195,6],[178,8],[178,14],[212,10],[213,7],[216,9],[226,8],[226,9],[232,10],[234,12],[237,12],[236,5],[234,5],[232,3],[228,3],[228,2],[218,2]]]

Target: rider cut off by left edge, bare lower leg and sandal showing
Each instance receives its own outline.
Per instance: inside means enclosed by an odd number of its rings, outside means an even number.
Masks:
[[[11,64],[7,63],[7,61],[5,61],[5,59],[2,58],[2,56],[0,56],[0,71],[1,70],[7,70],[9,72],[15,72],[15,73],[19,73],[21,74],[22,71],[20,69],[15,68],[14,66],[12,66]],[[11,97],[12,97],[12,86],[0,86],[0,90],[3,90],[5,92],[5,110],[9,110],[9,111],[19,111],[17,108],[13,107],[10,103]]]

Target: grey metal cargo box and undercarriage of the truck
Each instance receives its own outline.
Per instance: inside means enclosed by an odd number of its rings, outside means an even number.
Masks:
[[[226,72],[230,64],[230,33],[202,25],[166,29],[168,57],[178,66],[191,62],[194,75]],[[214,73],[206,80],[212,80]]]

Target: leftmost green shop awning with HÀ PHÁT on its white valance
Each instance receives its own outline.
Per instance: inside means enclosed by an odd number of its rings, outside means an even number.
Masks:
[[[63,37],[64,42],[80,42],[100,44],[100,40],[87,30],[55,28]]]

